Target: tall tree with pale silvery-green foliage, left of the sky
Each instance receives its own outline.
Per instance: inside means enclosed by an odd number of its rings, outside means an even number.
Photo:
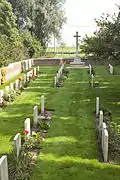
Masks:
[[[66,21],[65,0],[9,0],[17,16],[19,28],[35,33],[45,47],[51,36],[60,36]]]

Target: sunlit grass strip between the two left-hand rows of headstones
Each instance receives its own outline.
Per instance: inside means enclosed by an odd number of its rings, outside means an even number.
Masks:
[[[0,155],[13,150],[13,138],[16,133],[23,133],[26,118],[33,120],[33,107],[40,107],[40,96],[50,93],[53,75],[59,67],[42,67],[40,78],[31,82],[30,86],[9,106],[0,112]],[[45,83],[43,83],[45,82]]]

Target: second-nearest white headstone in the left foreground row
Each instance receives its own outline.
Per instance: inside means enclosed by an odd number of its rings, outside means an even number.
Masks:
[[[21,150],[21,134],[18,133],[14,137],[14,150],[17,155],[17,158],[19,157],[20,150]]]

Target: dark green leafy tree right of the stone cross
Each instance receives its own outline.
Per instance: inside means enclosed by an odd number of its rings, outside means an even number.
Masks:
[[[96,60],[120,59],[120,13],[118,15],[102,15],[95,20],[98,30],[94,35],[83,39],[81,44],[82,52],[86,57]]]

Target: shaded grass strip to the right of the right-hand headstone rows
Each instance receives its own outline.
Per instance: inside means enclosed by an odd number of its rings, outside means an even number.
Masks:
[[[115,67],[118,75],[111,75],[104,66],[96,66],[96,80],[100,89],[92,90],[94,96],[100,97],[100,104],[112,111],[113,121],[120,124],[120,66]]]

